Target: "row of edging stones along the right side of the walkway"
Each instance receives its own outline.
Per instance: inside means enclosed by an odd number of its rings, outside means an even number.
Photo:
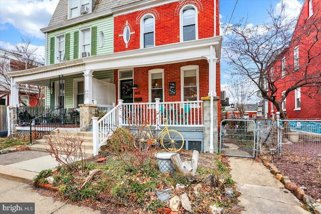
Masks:
[[[312,207],[313,213],[321,214],[321,200],[314,200],[311,196],[304,194],[304,190],[298,187],[295,183],[291,182],[287,176],[283,176],[281,172],[276,168],[276,166],[270,162],[270,159],[267,156],[260,157],[263,164],[266,167],[269,167],[270,172],[273,173],[276,178],[281,181],[285,188],[293,192],[293,194],[301,201],[303,201],[306,205]]]

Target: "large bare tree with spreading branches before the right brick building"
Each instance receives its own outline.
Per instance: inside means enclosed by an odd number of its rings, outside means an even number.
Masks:
[[[241,20],[236,25],[226,26],[227,36],[223,42],[231,74],[241,75],[252,81],[262,98],[274,104],[282,119],[287,118],[281,107],[282,102],[291,91],[299,87],[315,89],[320,87],[321,83],[319,70],[313,69],[321,66],[320,19],[315,16],[313,19],[288,20],[288,17],[284,16],[284,10],[283,5],[280,15],[275,15],[271,7],[268,12],[271,23],[252,26],[247,20]],[[293,52],[288,50],[293,50],[291,48],[298,44],[304,44],[300,55],[306,59],[300,59],[300,68],[297,70],[294,70],[293,63],[289,63],[283,68],[285,70],[282,74],[282,63],[277,62],[281,62],[284,56],[291,59],[289,56],[293,55]],[[271,65],[274,68],[273,73]],[[287,78],[284,78],[285,76]],[[280,87],[285,85],[284,81],[287,81],[285,93],[276,97],[278,90],[283,91]]]

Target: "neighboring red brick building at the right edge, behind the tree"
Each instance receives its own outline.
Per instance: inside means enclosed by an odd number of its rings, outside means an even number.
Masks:
[[[279,78],[275,82],[277,100],[288,88],[302,84],[302,81],[299,81],[304,79],[302,76],[321,78],[320,29],[321,0],[306,0],[291,45],[278,56],[278,60],[271,68],[272,78]],[[321,84],[310,84],[290,91],[282,103],[282,109],[289,119],[321,118]],[[270,102],[269,114],[275,113],[276,108]]]

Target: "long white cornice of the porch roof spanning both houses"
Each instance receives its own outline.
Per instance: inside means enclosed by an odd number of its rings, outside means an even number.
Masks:
[[[69,76],[85,70],[112,70],[143,66],[162,65],[200,59],[210,59],[210,46],[213,46],[213,57],[220,59],[222,37],[212,37],[169,44],[153,48],[138,49],[119,53],[71,60],[59,64],[47,65],[29,70],[10,72],[14,82],[37,82],[57,78],[59,75]]]

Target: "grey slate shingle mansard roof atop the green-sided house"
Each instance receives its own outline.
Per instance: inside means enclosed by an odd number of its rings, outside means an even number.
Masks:
[[[141,0],[93,0],[92,1],[92,14],[99,13],[102,11],[110,10],[113,8],[121,7],[124,5],[145,2]],[[68,1],[60,0],[57,8],[51,17],[48,27],[55,26],[66,22],[68,19]],[[77,19],[77,18],[75,18]]]

